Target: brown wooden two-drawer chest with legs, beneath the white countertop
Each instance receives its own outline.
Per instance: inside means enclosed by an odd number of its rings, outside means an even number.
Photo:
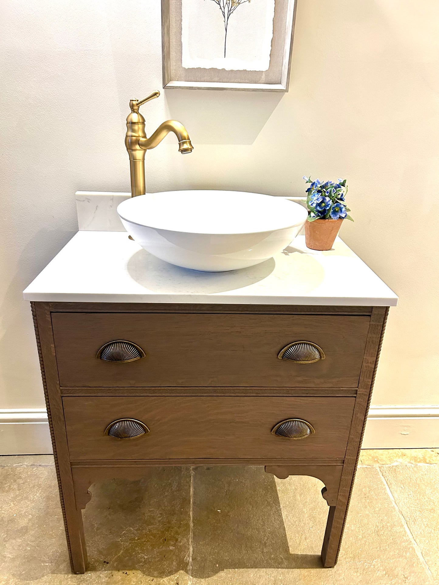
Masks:
[[[259,464],[325,484],[337,562],[386,307],[32,303],[72,570],[94,481]]]

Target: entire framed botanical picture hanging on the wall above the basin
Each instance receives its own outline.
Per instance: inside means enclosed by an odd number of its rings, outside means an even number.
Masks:
[[[296,0],[162,0],[163,87],[287,91]]]

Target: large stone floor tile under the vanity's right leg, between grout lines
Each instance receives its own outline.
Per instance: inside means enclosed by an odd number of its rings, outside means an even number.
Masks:
[[[321,487],[259,467],[196,468],[193,585],[429,583],[374,467],[358,470],[338,565],[322,569]]]

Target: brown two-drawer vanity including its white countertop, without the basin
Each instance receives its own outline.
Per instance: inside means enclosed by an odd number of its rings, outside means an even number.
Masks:
[[[337,562],[388,308],[396,295],[339,239],[206,274],[124,232],[78,232],[32,301],[73,572],[92,483],[153,466],[260,465],[324,483]],[[318,494],[316,494],[318,497]]]

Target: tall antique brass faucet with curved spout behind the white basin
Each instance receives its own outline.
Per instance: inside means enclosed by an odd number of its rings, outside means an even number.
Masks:
[[[145,153],[162,142],[169,132],[173,132],[179,139],[179,151],[188,154],[193,151],[189,135],[183,124],[176,120],[167,120],[149,137],[145,134],[145,118],[139,113],[139,107],[150,99],[158,98],[159,91],[153,91],[145,99],[131,99],[129,107],[131,113],[126,118],[125,146],[129,154],[129,170],[131,174],[131,197],[145,195]]]

